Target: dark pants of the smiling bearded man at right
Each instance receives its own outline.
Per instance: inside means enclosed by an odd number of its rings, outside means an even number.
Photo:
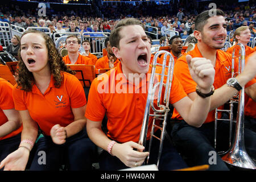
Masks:
[[[233,125],[233,134],[236,126]],[[245,148],[251,158],[256,157],[256,133],[244,130]],[[217,146],[214,146],[214,122],[205,123],[201,127],[189,126],[185,121],[176,122],[172,128],[172,140],[177,150],[184,156],[189,166],[209,164],[209,170],[229,170],[220,155],[216,155],[216,163],[211,163],[213,152],[229,149],[229,122],[218,121]]]

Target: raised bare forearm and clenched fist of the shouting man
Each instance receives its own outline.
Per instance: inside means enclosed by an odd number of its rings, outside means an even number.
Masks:
[[[205,58],[193,58],[190,55],[186,57],[188,68],[193,80],[197,83],[197,87],[201,93],[210,93],[214,81],[214,68],[210,60]],[[174,103],[175,109],[180,113],[181,117],[189,124],[200,127],[207,118],[210,109],[210,97],[201,97],[198,94],[195,100],[184,97]]]

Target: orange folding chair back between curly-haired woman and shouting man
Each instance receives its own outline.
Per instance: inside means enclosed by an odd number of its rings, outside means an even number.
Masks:
[[[94,65],[71,64],[68,67],[76,72],[75,76],[80,80],[84,88],[90,87],[90,84],[92,84],[92,81],[96,77]]]

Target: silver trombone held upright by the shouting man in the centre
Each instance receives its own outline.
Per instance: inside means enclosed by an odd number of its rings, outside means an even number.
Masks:
[[[162,54],[164,54],[163,64],[159,64],[157,63],[157,59]],[[168,65],[167,65],[167,56],[170,56]],[[162,68],[162,72],[160,74],[156,73],[156,66],[159,66]],[[166,68],[167,68],[167,75],[165,75]],[[160,160],[160,156],[162,154],[162,149],[163,149],[164,133],[165,133],[166,124],[167,124],[167,115],[168,115],[168,111],[170,111],[169,98],[170,98],[170,92],[171,92],[173,72],[174,72],[174,57],[172,57],[171,53],[167,51],[156,52],[154,59],[152,61],[152,71],[151,71],[150,83],[148,87],[147,102],[144,110],[144,118],[142,122],[141,134],[139,136],[139,144],[141,144],[142,146],[146,146],[148,121],[149,119],[152,119],[153,121],[152,121],[148,151],[150,152],[151,150],[152,137],[155,137],[156,139],[160,140],[158,160],[157,160],[156,166],[159,166],[159,160]],[[160,81],[158,80],[159,82],[155,81],[156,75],[160,76],[160,79],[159,79]],[[166,83],[164,83],[164,80],[166,80]],[[164,94],[162,94],[163,86],[165,87]],[[156,105],[158,108],[154,106],[155,93],[157,94]],[[164,98],[162,98],[162,96]],[[162,103],[160,103],[161,101]],[[162,127],[156,125],[155,123],[156,120],[163,121]],[[154,135],[155,128],[161,130],[160,138]],[[146,164],[148,164],[149,158],[150,158],[150,155],[148,155],[147,157],[147,161],[145,162]]]

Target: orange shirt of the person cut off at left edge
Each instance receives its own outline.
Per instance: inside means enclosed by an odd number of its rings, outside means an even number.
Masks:
[[[0,78],[0,126],[5,124],[8,121],[3,110],[14,109],[13,102],[13,85],[10,84],[7,80]],[[22,131],[22,126],[19,129],[12,131],[11,133],[0,137],[0,140],[14,137]]]

